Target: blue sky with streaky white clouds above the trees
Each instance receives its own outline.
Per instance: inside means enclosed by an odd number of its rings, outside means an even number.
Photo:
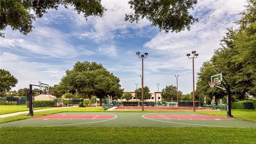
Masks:
[[[192,59],[186,54],[196,51],[195,76],[203,62],[210,60],[219,47],[226,28],[236,27],[236,15],[244,10],[245,0],[198,0],[191,10],[199,22],[190,31],[159,32],[146,19],[138,24],[124,21],[132,12],[126,0],[102,0],[108,9],[104,16],[78,15],[73,8],[60,6],[49,10],[34,22],[33,32],[23,36],[8,27],[0,38],[0,68],[18,79],[12,90],[29,88],[29,84],[54,86],[78,61],[94,61],[120,78],[125,92],[141,87],[142,59],[136,52],[148,53],[144,59],[144,86],[157,92],[165,86],[176,86],[183,94],[193,91]],[[196,78],[195,78],[196,80]],[[210,82],[210,78],[209,78]],[[33,87],[37,88],[37,87]]]

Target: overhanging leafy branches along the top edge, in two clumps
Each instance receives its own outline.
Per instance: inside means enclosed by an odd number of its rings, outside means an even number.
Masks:
[[[185,28],[190,30],[198,18],[194,18],[190,9],[194,9],[197,0],[130,0],[130,8],[134,13],[126,14],[124,20],[138,22],[140,18],[146,18],[152,22],[152,26],[158,26],[165,32],[180,32]],[[27,35],[32,32],[33,22],[36,18],[42,18],[47,10],[58,10],[58,6],[74,7],[78,14],[102,17],[106,9],[101,5],[101,0],[1,0],[0,31],[10,26],[12,30],[19,30]],[[0,32],[0,37],[4,33]]]

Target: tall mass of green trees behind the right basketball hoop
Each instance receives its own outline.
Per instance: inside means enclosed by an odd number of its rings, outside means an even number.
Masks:
[[[242,18],[235,22],[237,29],[227,28],[220,48],[200,68],[196,95],[201,100],[204,96],[220,99],[226,95],[226,91],[207,85],[210,76],[221,72],[226,83],[230,84],[233,99],[246,100],[246,94],[256,96],[256,1],[247,2],[246,9],[239,13]]]

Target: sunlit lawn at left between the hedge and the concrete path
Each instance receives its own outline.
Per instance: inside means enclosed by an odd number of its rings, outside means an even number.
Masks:
[[[54,108],[54,107],[50,107]],[[34,110],[41,110],[41,109],[46,109],[46,108],[34,108]],[[2,114],[12,114],[16,112],[24,112],[24,111],[29,111],[29,108],[27,106],[5,106],[5,105],[0,105],[0,115]]]

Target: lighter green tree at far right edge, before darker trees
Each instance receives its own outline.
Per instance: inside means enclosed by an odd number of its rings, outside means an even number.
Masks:
[[[239,13],[242,18],[235,22],[240,26],[234,35],[234,50],[238,54],[232,56],[232,60],[242,64],[244,74],[239,81],[243,78],[249,81],[251,85],[246,92],[256,97],[256,1],[247,2],[246,9]],[[246,99],[246,94],[243,98]]]

